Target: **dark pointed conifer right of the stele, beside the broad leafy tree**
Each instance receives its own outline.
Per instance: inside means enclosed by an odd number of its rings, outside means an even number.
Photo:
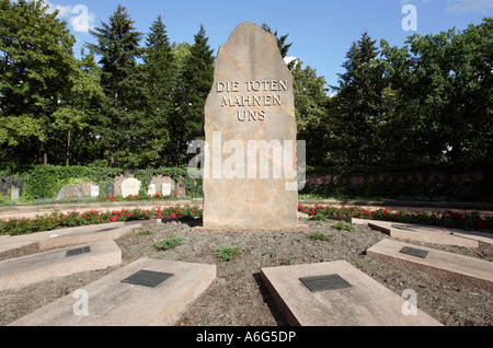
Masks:
[[[336,146],[332,159],[339,164],[376,164],[380,161],[380,126],[383,121],[383,65],[368,33],[353,43],[340,73],[332,103]]]

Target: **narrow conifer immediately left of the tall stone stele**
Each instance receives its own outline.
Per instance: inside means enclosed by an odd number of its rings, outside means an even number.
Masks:
[[[204,106],[214,81],[214,50],[204,26],[184,56],[175,90],[175,108],[170,120],[170,152],[173,165],[186,164],[188,143],[204,139]]]

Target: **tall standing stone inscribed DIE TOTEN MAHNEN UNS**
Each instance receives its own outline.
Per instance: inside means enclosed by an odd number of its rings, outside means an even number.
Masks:
[[[296,229],[293,74],[276,37],[254,23],[218,51],[205,135],[204,228]]]

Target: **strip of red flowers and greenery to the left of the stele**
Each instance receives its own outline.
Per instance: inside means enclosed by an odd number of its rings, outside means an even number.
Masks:
[[[49,216],[37,216],[34,219],[13,218],[0,220],[0,235],[20,235],[43,231],[51,231],[60,228],[73,228],[79,225],[101,224],[117,221],[135,221],[150,219],[180,219],[193,220],[202,217],[200,206],[170,207],[162,209],[122,209],[100,212],[90,210],[84,212],[71,211],[69,213],[53,212]]]

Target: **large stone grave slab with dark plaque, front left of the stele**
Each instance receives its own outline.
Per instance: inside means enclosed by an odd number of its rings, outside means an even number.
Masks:
[[[149,286],[142,270],[172,275]],[[134,281],[129,281],[129,278]],[[156,279],[156,278],[154,278]],[[88,315],[74,315],[70,293],[11,323],[11,326],[164,326],[216,279],[216,266],[140,258],[83,288]],[[134,282],[134,283],[133,283]],[[141,285],[140,282],[144,282]],[[157,283],[154,281],[154,283]]]

